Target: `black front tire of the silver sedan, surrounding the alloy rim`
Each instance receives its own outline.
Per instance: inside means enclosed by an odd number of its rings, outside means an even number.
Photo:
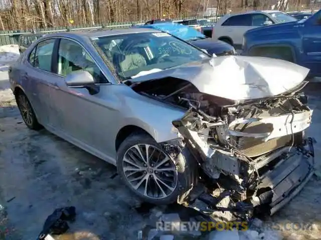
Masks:
[[[197,173],[197,164],[196,160],[192,157],[192,154],[188,150],[188,148],[183,149],[180,153],[179,157],[175,160],[171,160],[176,166],[176,174],[177,174],[177,184],[173,190],[173,192],[166,197],[157,198],[157,197],[149,197],[145,196],[138,190],[134,189],[134,187],[129,183],[125,172],[123,170],[124,167],[124,155],[128,149],[136,144],[148,144],[158,149],[162,150],[161,144],[157,143],[150,135],[146,133],[136,132],[129,135],[119,146],[117,150],[117,171],[120,178],[123,182],[129,187],[129,189],[139,196],[143,201],[152,203],[152,204],[169,204],[178,200],[178,196],[188,195],[188,191],[192,186],[195,186],[196,181],[198,179]],[[165,152],[165,151],[163,151]],[[168,156],[168,155],[167,155]],[[146,171],[145,171],[146,173]],[[153,180],[155,182],[155,180]],[[184,195],[185,194],[185,195]]]

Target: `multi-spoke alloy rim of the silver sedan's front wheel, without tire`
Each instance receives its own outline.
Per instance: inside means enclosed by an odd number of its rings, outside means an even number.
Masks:
[[[178,174],[173,160],[149,144],[131,146],[122,160],[126,180],[133,189],[150,198],[165,198],[176,189]]]

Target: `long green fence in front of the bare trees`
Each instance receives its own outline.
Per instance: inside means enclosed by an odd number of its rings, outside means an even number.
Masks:
[[[217,16],[208,16],[208,17],[193,17],[185,19],[205,19],[209,18],[211,21],[216,22]],[[182,20],[182,18],[173,19],[174,21]],[[135,25],[141,25],[143,22],[131,21],[131,22],[112,22],[107,24],[100,25],[71,25],[71,26],[59,26],[59,27],[48,27],[48,28],[36,28],[28,30],[11,30],[11,31],[0,31],[0,46],[9,45],[9,44],[18,44],[18,39],[21,34],[39,32],[39,33],[54,33],[59,31],[75,31],[82,29],[91,29],[91,28],[128,28]]]

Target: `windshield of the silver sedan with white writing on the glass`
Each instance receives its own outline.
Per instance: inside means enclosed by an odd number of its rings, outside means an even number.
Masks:
[[[203,51],[166,32],[142,32],[92,39],[122,79],[142,71],[167,69],[210,58]]]

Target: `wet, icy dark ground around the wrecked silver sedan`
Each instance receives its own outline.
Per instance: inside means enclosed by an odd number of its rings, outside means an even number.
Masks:
[[[35,239],[46,217],[68,205],[74,205],[78,215],[69,233],[59,239],[136,239],[149,215],[143,214],[144,207],[137,208],[139,200],[120,182],[116,168],[45,129],[29,130],[8,88],[6,70],[6,65],[0,65],[0,204],[8,212],[0,214],[0,230],[7,231],[6,239]],[[313,84],[307,90],[314,109],[307,134],[317,141],[315,160],[320,169],[321,86]],[[314,223],[312,229],[282,234],[287,239],[320,239],[320,183],[314,176],[264,224]]]

